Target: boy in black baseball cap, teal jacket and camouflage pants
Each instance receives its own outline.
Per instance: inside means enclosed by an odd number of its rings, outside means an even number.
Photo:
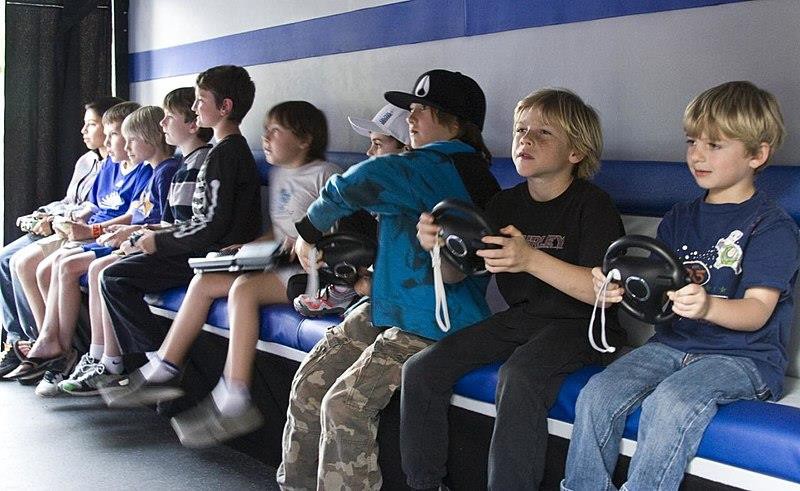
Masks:
[[[416,239],[418,217],[446,198],[483,208],[499,190],[481,136],[486,100],[474,80],[432,70],[411,93],[385,97],[411,110],[413,150],[333,177],[297,223],[295,251],[308,267],[312,244],[338,218],[380,215],[371,306],[330,329],[295,374],[278,469],[283,488],[380,487],[378,413],[400,385],[404,361],[445,334],[435,320],[430,256]],[[475,277],[447,285],[456,306],[450,332],[488,316],[485,287]]]

